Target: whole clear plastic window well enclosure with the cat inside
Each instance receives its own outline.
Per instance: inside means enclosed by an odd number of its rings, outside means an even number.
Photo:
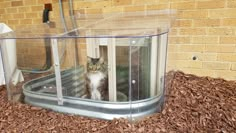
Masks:
[[[109,120],[160,111],[174,14],[76,14],[74,23],[52,19],[1,34],[8,99]]]

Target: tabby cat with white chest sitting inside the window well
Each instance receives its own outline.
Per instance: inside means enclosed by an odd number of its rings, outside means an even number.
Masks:
[[[93,100],[108,100],[107,65],[102,57],[87,58],[86,94]]]

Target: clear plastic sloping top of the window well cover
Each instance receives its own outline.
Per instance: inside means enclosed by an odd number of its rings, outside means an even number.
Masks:
[[[110,14],[75,14],[51,19],[48,23],[29,25],[0,38],[87,38],[87,37],[143,37],[168,32],[174,10],[153,10]]]

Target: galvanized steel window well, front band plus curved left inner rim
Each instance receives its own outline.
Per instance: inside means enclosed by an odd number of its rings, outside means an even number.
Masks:
[[[69,71],[62,72],[62,77],[63,74],[68,75],[68,72]],[[23,93],[25,95],[25,103],[57,112],[106,120],[112,120],[114,118],[136,120],[149,114],[159,112],[162,108],[163,97],[161,94],[148,99],[127,102],[95,101],[80,97],[63,96],[63,105],[58,105],[56,94],[42,93],[41,90],[35,89],[39,88],[40,85],[42,86],[45,81],[51,80],[53,82],[53,80],[48,77],[52,78],[54,75],[34,79],[24,84]]]

